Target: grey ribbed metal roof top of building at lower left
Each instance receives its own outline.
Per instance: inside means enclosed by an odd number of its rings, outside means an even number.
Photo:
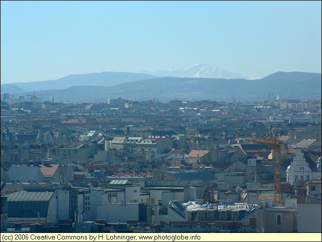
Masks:
[[[19,191],[7,195],[8,202],[18,202],[18,201],[49,201],[53,192],[27,192]]]

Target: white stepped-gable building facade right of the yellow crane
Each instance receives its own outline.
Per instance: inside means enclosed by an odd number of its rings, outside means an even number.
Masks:
[[[318,180],[321,177],[321,172],[312,171],[306,163],[304,154],[298,151],[291,162],[291,165],[286,170],[286,179],[291,185],[297,180],[310,181]]]

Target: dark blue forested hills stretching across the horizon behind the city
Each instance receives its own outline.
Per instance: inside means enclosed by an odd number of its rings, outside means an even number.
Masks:
[[[34,92],[34,93],[33,93]],[[107,102],[109,98],[130,101],[156,99],[162,102],[215,100],[256,102],[281,99],[321,98],[321,74],[276,72],[261,79],[156,77],[144,73],[102,72],[69,75],[57,80],[1,85],[1,94],[35,95],[43,101]]]

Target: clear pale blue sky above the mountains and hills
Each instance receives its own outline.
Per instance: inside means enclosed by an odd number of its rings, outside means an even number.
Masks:
[[[203,63],[321,73],[320,1],[1,1],[1,84]]]

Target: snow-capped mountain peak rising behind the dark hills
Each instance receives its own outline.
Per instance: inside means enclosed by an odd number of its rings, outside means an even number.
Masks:
[[[176,68],[168,70],[136,70],[135,73],[146,73],[154,76],[173,76],[173,77],[198,77],[198,78],[222,78],[222,79],[251,79],[248,76],[223,70],[217,67],[211,67],[205,64],[194,64],[190,67]]]

